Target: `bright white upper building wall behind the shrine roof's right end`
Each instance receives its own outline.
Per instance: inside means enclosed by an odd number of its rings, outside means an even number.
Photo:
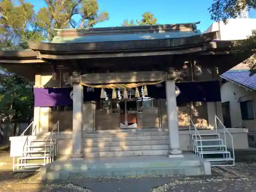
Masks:
[[[252,35],[252,29],[256,29],[256,19],[237,18],[229,19],[226,25],[223,22],[220,24],[215,22],[205,30],[205,33],[218,31],[218,39],[220,40],[239,40]]]

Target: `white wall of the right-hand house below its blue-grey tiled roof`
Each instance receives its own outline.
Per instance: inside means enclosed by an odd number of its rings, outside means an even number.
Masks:
[[[255,120],[242,120],[240,109],[240,101],[253,99],[254,105],[256,103],[256,92],[246,91],[245,88],[238,86],[230,81],[221,85],[221,100],[222,102],[229,101],[230,103],[230,119],[232,127],[239,127],[240,124],[249,130],[249,132],[256,131]],[[256,106],[254,106],[254,109]]]

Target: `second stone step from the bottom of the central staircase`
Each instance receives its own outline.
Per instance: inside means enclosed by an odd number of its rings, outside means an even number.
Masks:
[[[130,146],[97,146],[97,147],[84,147],[83,152],[113,152],[113,151],[142,151],[142,150],[168,150],[168,144],[160,145],[130,145]]]

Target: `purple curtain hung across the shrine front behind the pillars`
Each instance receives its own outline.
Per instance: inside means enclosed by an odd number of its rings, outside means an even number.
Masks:
[[[202,82],[180,82],[176,83],[180,89],[180,95],[177,97],[177,103],[190,101],[221,101],[220,82],[219,81],[202,81]],[[73,100],[70,97],[72,88],[34,88],[35,107],[72,105]],[[83,100],[93,101],[100,100],[101,89],[88,90],[83,89]],[[165,82],[161,86],[147,86],[149,97],[166,98]],[[109,98],[112,98],[112,90],[106,89]]]

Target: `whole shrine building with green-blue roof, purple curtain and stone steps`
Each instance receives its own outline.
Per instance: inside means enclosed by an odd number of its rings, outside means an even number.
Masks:
[[[62,29],[51,42],[29,42],[29,50],[0,51],[3,68],[35,82],[31,134],[10,138],[11,156],[20,157],[17,170],[37,157],[26,151],[29,141],[49,138],[57,145],[52,156],[69,156],[71,164],[164,158],[168,168],[150,169],[156,175],[164,175],[163,169],[167,175],[207,175],[210,166],[234,163],[225,154],[248,148],[247,130],[222,127],[220,75],[250,53],[236,49],[236,41],[218,40],[217,32],[201,33],[197,24]],[[203,152],[202,142],[217,141],[205,135],[218,136],[222,144]],[[215,160],[203,156],[216,151],[222,156]],[[48,158],[43,156],[38,158]]]

